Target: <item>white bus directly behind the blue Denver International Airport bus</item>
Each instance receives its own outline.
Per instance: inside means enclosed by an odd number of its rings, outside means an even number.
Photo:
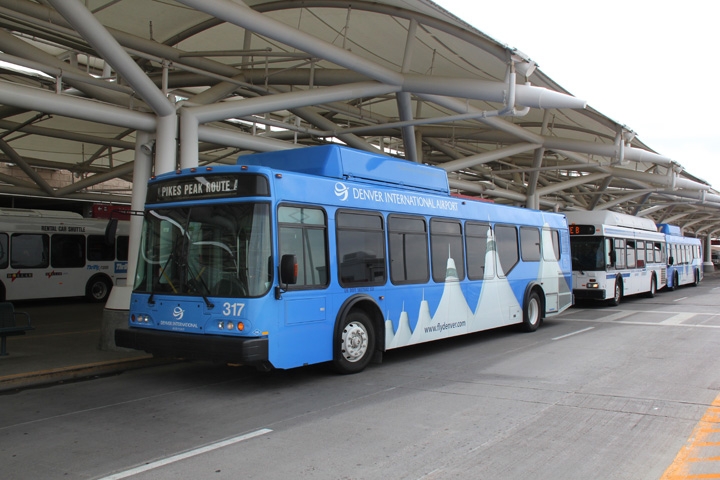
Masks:
[[[665,286],[665,235],[649,218],[609,211],[567,212],[573,294],[619,305]]]

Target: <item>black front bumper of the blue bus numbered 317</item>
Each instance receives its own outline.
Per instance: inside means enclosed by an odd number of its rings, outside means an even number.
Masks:
[[[267,338],[119,328],[115,330],[115,345],[143,350],[157,357],[252,365],[263,369],[269,367]]]

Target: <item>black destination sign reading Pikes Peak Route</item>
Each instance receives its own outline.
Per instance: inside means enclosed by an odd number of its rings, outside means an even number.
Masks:
[[[177,202],[269,194],[268,181],[262,175],[198,175],[173,178],[149,185],[147,202]]]

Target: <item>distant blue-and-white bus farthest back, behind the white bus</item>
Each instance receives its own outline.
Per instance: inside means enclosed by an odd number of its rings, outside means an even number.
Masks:
[[[675,290],[681,285],[699,285],[703,278],[702,244],[699,238],[684,237],[680,227],[659,223],[665,234],[667,248],[667,282],[665,288]]]

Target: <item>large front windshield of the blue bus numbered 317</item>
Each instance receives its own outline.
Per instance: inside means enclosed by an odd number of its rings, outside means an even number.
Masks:
[[[259,297],[272,284],[270,205],[146,211],[134,291]]]

